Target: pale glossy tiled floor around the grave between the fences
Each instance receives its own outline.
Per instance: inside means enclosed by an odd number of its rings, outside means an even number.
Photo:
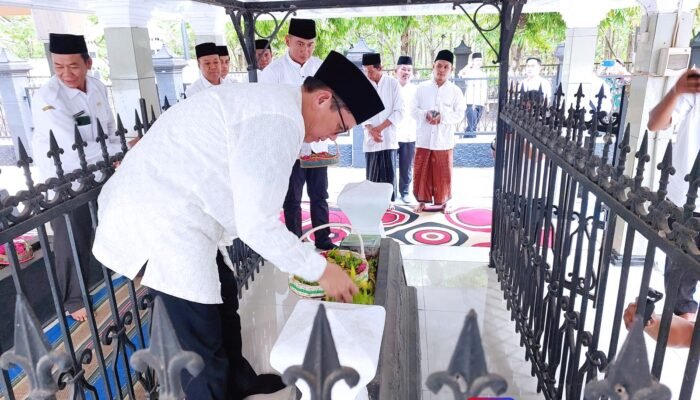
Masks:
[[[518,345],[495,274],[486,266],[488,249],[402,246],[408,284],[418,290],[422,380],[447,368],[469,310],[478,314],[489,372],[508,381],[505,396],[542,398],[529,375],[524,349]],[[241,303],[244,353],[258,372],[275,372],[269,354],[298,298],[287,289],[287,274],[267,266]],[[491,393],[484,393],[489,395]],[[263,399],[289,399],[291,390]],[[424,386],[423,399],[453,399],[447,389],[433,394]]]

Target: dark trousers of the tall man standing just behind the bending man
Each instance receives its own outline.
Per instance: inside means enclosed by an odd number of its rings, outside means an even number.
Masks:
[[[289,177],[289,189],[283,205],[285,225],[297,237],[301,237],[302,234],[301,198],[304,183],[309,195],[311,225],[315,228],[328,223],[328,168],[301,168],[297,160]],[[331,243],[330,234],[330,228],[317,231],[314,235],[316,246]]]

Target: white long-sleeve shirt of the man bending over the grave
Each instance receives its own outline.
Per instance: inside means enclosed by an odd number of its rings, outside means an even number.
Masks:
[[[304,139],[301,89],[221,85],[163,113],[98,199],[93,254],[142,284],[221,303],[222,238],[239,237],[283,271],[316,281],[326,261],[279,219]]]

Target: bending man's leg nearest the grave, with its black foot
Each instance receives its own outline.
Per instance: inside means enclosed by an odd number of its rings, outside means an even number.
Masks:
[[[223,304],[219,305],[221,333],[229,364],[227,398],[237,400],[254,394],[268,394],[282,390],[285,385],[279,375],[256,374],[248,360],[243,356],[236,277],[224,262],[221,253],[216,255],[216,265],[219,268],[221,299],[223,300]]]

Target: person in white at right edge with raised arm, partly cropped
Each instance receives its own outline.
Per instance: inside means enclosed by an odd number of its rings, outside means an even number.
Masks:
[[[649,113],[648,128],[651,131],[678,126],[678,138],[673,146],[673,167],[676,173],[668,182],[668,198],[678,206],[687,202],[688,182],[685,181],[700,153],[700,70],[688,69],[678,79],[671,91]],[[700,199],[695,199],[695,210],[700,210]],[[694,212],[695,217],[700,213]],[[672,221],[669,219],[669,225]],[[700,246],[700,236],[695,237]],[[666,284],[670,272],[670,259],[666,259]],[[698,302],[693,298],[697,279],[681,278],[674,313],[682,318],[695,321]]]

